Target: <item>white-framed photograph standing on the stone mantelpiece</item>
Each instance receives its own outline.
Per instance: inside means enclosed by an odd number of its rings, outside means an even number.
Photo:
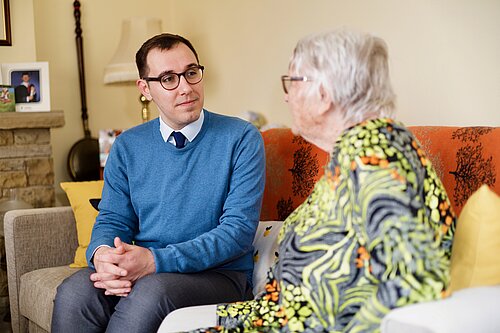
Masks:
[[[50,111],[49,63],[2,64],[2,79],[14,87],[16,111]]]

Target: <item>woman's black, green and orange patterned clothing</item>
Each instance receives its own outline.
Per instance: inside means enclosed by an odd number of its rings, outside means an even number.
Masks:
[[[455,215],[414,136],[389,119],[339,138],[324,176],[285,221],[255,300],[220,305],[227,332],[377,332],[392,308],[441,298]]]

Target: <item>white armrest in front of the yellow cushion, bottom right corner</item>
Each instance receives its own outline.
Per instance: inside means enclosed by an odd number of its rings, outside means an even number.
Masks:
[[[439,301],[404,306],[382,320],[382,333],[500,332],[500,285],[454,292]]]

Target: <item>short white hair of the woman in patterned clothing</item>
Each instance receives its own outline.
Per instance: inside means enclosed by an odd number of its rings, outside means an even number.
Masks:
[[[290,68],[311,77],[309,93],[322,87],[349,122],[394,113],[387,45],[378,37],[347,30],[305,37],[295,47]]]

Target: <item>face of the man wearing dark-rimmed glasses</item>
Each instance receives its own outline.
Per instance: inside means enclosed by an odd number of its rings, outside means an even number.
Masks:
[[[194,53],[182,43],[170,50],[152,49],[146,61],[148,77],[158,77],[167,72],[183,73],[198,65]],[[175,130],[200,117],[204,100],[203,80],[191,85],[181,76],[179,86],[174,90],[165,90],[158,81],[148,83],[137,80],[137,86],[148,100],[153,100],[158,106],[161,119]]]

